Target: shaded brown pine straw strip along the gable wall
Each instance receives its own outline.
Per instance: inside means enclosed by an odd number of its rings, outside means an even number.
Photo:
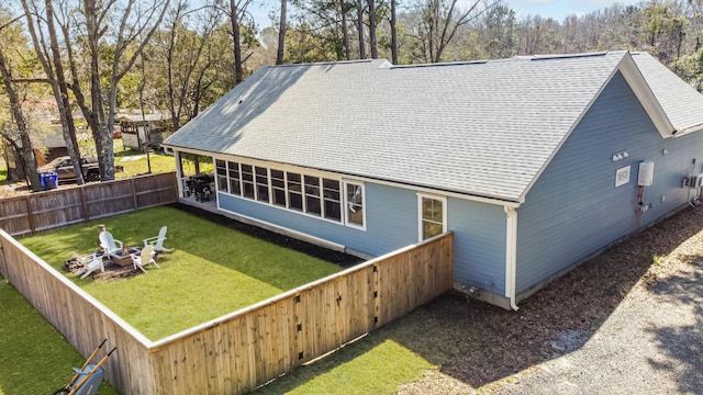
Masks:
[[[502,380],[580,348],[629,292],[651,292],[703,256],[702,224],[703,207],[687,207],[554,281],[518,312],[453,294],[411,313],[399,325],[421,326],[423,336],[406,346],[439,369],[399,393],[500,392]]]

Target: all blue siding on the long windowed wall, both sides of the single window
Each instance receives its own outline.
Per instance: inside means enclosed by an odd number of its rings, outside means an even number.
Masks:
[[[365,183],[366,230],[220,193],[223,210],[380,256],[417,242],[417,192]],[[447,200],[456,281],[499,294],[505,289],[505,213],[502,206]]]

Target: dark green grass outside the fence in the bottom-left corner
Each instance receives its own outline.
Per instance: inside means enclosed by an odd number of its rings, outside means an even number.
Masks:
[[[86,361],[2,276],[0,323],[0,395],[53,394]],[[99,394],[118,392],[103,382]]]

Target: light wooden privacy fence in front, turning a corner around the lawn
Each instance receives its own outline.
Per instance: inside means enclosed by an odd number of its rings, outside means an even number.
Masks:
[[[107,375],[121,393],[237,394],[449,291],[451,242],[437,236],[158,341],[1,230],[0,271],[83,356],[103,338],[118,347]]]

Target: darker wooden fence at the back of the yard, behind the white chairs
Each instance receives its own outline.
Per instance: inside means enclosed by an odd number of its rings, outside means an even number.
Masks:
[[[174,172],[0,199],[0,228],[12,236],[178,201]]]

